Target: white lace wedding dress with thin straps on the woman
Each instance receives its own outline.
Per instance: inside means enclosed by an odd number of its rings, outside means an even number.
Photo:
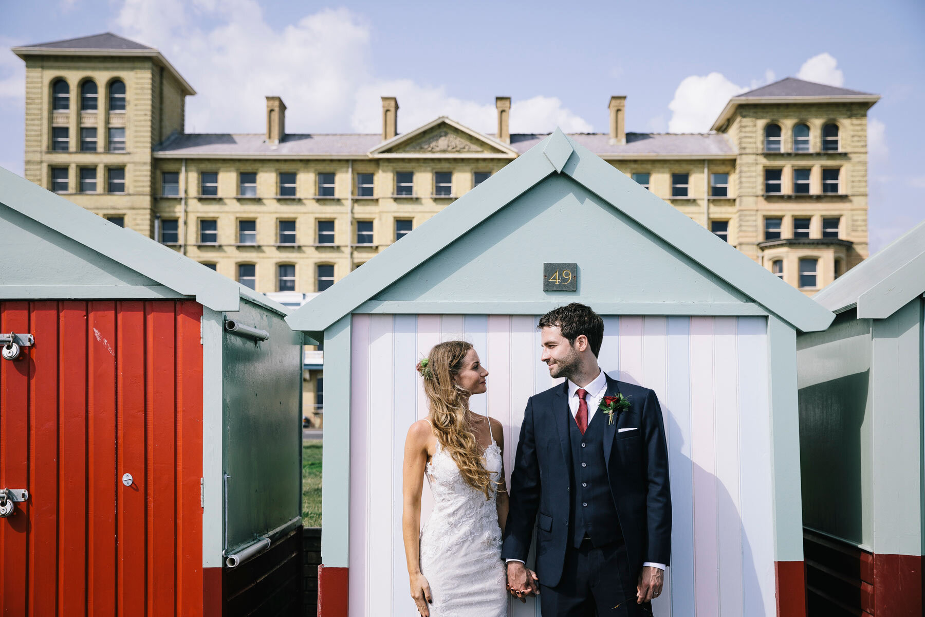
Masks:
[[[497,480],[501,449],[494,436],[484,457]],[[434,599],[428,607],[431,617],[506,617],[507,569],[501,561],[494,486],[486,500],[485,493],[466,484],[439,443],[425,475],[435,502],[421,529],[421,573]]]

